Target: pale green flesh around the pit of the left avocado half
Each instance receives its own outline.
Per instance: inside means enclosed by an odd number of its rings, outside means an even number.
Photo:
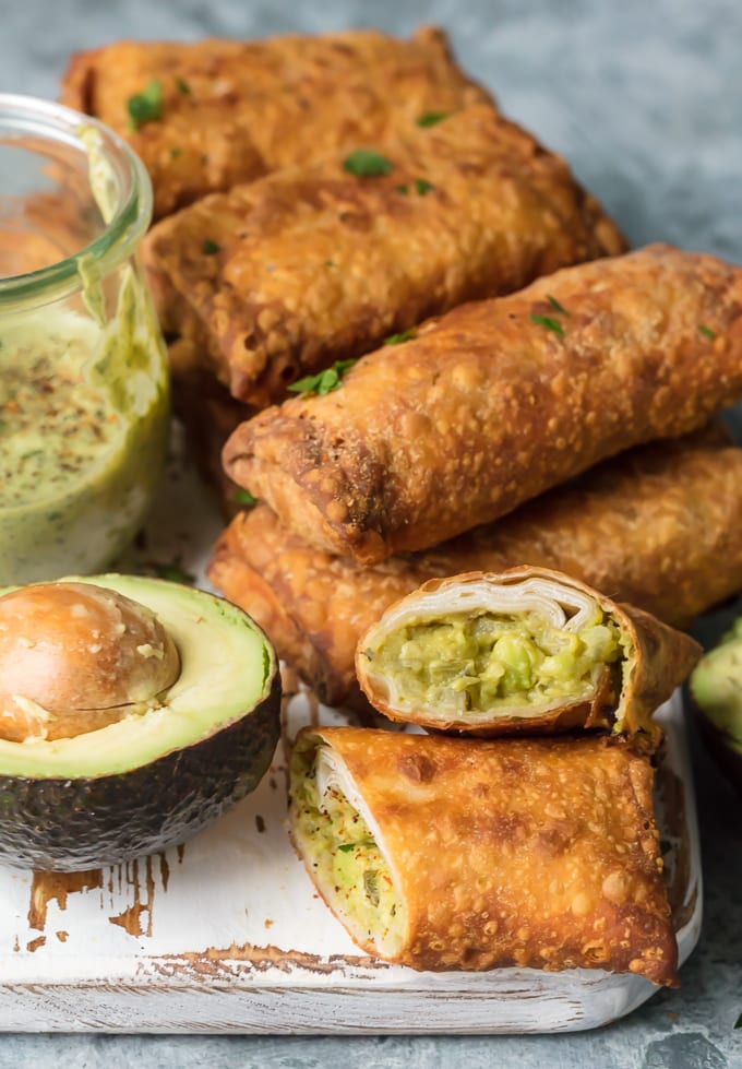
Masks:
[[[99,731],[52,741],[0,739],[0,775],[72,780],[128,772],[214,735],[266,696],[275,672],[273,651],[236,606],[142,577],[71,581],[108,587],[151,608],[178,648],[180,675],[161,696],[161,705]]]

